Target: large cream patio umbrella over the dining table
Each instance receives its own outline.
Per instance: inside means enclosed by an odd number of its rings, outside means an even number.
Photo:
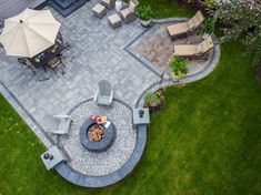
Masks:
[[[50,10],[26,9],[4,20],[0,43],[7,55],[32,58],[54,44],[60,27]]]

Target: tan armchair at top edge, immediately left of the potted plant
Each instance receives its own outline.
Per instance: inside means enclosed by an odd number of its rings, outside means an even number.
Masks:
[[[128,8],[120,11],[120,14],[126,23],[129,23],[135,19],[135,8],[138,4],[138,0],[129,0]]]

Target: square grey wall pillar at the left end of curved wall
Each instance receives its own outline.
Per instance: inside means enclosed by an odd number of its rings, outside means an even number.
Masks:
[[[62,161],[67,161],[63,153],[57,147],[53,146],[41,155],[41,160],[46,165],[47,170],[53,168],[56,165]]]

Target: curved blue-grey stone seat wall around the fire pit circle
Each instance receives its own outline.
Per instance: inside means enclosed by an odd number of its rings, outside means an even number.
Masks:
[[[58,164],[54,170],[68,182],[82,187],[104,187],[123,179],[139,163],[147,142],[147,125],[137,126],[137,144],[127,163],[118,171],[104,176],[88,176],[71,170],[64,162]]]

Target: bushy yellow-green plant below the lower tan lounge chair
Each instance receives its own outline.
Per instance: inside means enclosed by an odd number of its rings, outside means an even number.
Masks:
[[[173,54],[169,60],[169,65],[172,69],[172,78],[179,80],[189,73],[189,60],[182,59]]]

